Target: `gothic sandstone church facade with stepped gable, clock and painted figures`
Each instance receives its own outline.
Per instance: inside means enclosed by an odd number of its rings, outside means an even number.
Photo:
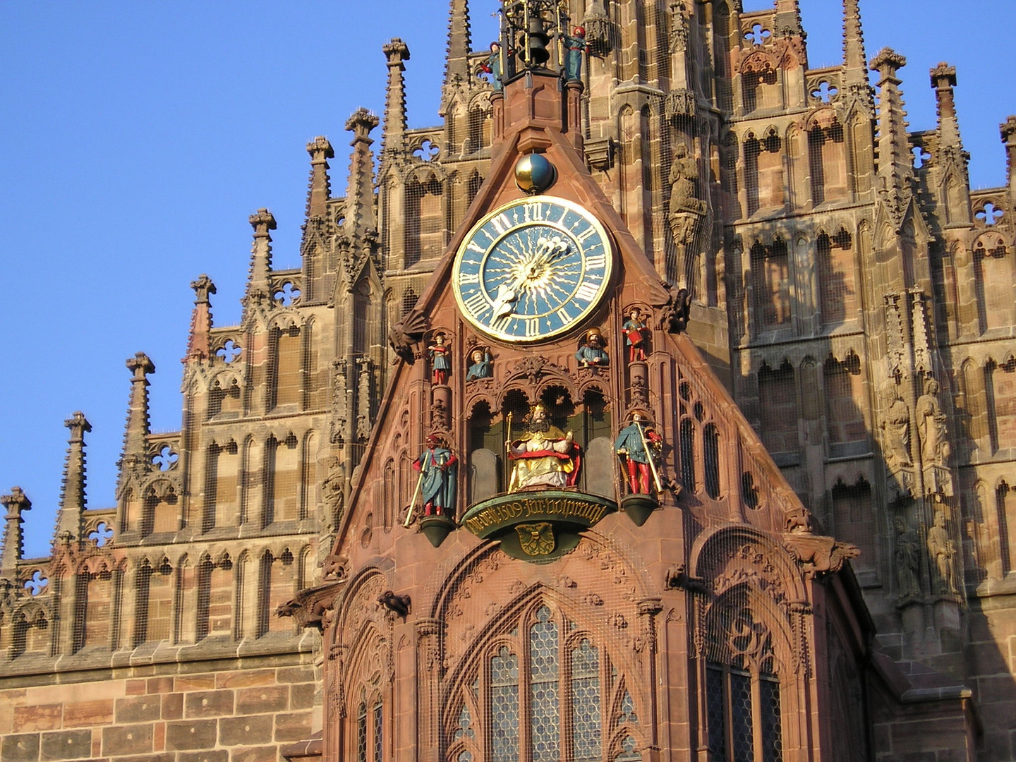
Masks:
[[[1016,117],[971,191],[952,67],[911,132],[858,0],[823,69],[740,5],[507,2],[492,55],[451,0],[433,128],[384,46],[302,266],[259,209],[240,324],[192,284],[181,431],[139,353],[116,506],[80,412],[52,556],[3,497],[4,760],[1016,759]],[[613,269],[546,335],[495,288],[512,336],[456,254],[527,191]]]

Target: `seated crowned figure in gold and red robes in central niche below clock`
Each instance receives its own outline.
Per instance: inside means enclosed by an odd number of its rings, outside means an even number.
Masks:
[[[505,446],[508,459],[515,463],[508,492],[572,487],[578,479],[579,447],[571,432],[551,424],[542,404],[529,414],[525,432]]]

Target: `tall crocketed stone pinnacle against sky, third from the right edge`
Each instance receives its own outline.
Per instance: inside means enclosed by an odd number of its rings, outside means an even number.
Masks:
[[[878,138],[881,190],[890,198],[890,209],[900,221],[909,181],[913,177],[913,161],[906,135],[906,111],[896,72],[906,65],[906,59],[889,48],[883,48],[870,64],[879,73]]]

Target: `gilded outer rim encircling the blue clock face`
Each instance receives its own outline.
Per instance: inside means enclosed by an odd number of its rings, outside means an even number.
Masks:
[[[595,231],[596,235],[599,237],[599,240],[602,242],[605,263],[604,263],[602,280],[596,288],[595,296],[589,302],[589,304],[584,309],[581,310],[581,312],[578,315],[570,319],[567,323],[564,323],[559,328],[549,330],[546,333],[539,333],[535,336],[527,337],[496,330],[492,326],[485,325],[482,321],[475,319],[472,313],[466,308],[466,305],[464,304],[462,299],[460,265],[465,255],[466,248],[468,247],[469,243],[473,240],[473,237],[480,232],[480,230],[484,226],[486,226],[494,217],[496,217],[497,215],[503,213],[508,209],[514,209],[524,204],[533,204],[533,203],[550,203],[564,207],[567,210],[572,211],[575,214],[579,215],[585,221],[587,221],[589,226]],[[500,234],[498,238],[494,241],[494,243],[492,243],[487,248],[487,250],[484,252],[484,256],[485,257],[488,256],[490,254],[490,251],[495,248],[498,242],[500,242],[502,239],[510,235],[512,232],[517,231],[521,228],[528,227],[530,225],[541,225],[541,224],[565,231],[570,235],[570,237],[573,240],[575,239],[574,234],[571,234],[571,232],[568,231],[568,229],[561,227],[559,224],[556,224],[553,220],[534,219],[531,221],[526,221],[521,224],[513,223],[510,228],[506,229],[504,233]],[[587,247],[580,246],[580,255],[583,259],[583,262],[587,256],[586,248]],[[614,275],[614,245],[610,235],[608,234],[607,229],[604,227],[604,224],[599,220],[599,218],[595,214],[593,214],[589,209],[587,209],[585,206],[578,203],[577,201],[572,201],[571,199],[562,198],[560,196],[541,194],[535,196],[523,196],[521,198],[516,198],[506,203],[503,203],[497,206],[496,208],[492,209],[491,211],[487,212],[486,214],[484,214],[469,228],[469,231],[466,233],[465,237],[462,239],[461,243],[458,245],[455,251],[455,258],[452,263],[452,293],[454,294],[455,304],[458,307],[458,310],[461,313],[463,320],[465,320],[469,325],[471,325],[473,328],[482,332],[485,336],[488,336],[498,341],[504,341],[506,343],[532,344],[542,341],[549,341],[552,339],[561,338],[562,336],[571,333],[572,331],[575,331],[580,325],[586,322],[589,316],[601,306],[604,298],[610,292],[613,275]]]

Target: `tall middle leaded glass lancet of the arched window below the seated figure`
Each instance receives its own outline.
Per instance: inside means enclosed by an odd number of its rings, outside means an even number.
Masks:
[[[561,756],[558,696],[558,625],[546,606],[536,612],[529,630],[530,691],[532,692],[529,747],[532,762],[551,762]]]

